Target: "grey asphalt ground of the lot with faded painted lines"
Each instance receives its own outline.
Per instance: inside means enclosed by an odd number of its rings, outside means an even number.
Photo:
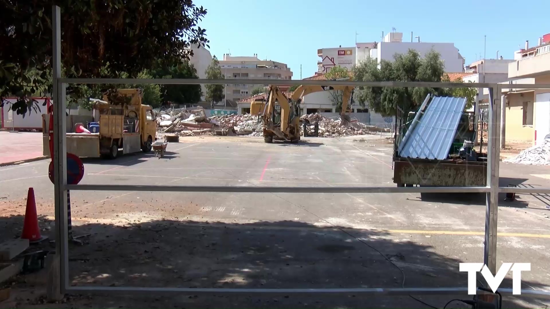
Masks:
[[[182,138],[168,146],[164,158],[132,154],[114,161],[85,159],[81,184],[394,186],[392,144],[377,136],[358,140],[307,138],[290,145],[264,144],[258,137]],[[48,164],[0,168],[0,240],[20,233],[30,186],[43,233],[51,233]],[[500,174],[502,185],[550,187],[549,167],[501,163]],[[429,201],[420,200],[420,194],[73,191],[70,196],[75,233],[92,234],[89,244],[70,248],[74,285],[465,287],[467,276],[458,272],[459,262],[483,260],[485,205],[464,196]],[[503,198],[497,260],[531,262],[531,271],[522,274],[523,288],[546,289],[548,197]],[[28,289],[28,283],[15,286],[21,293]],[[511,287],[511,273],[501,286]],[[356,296],[94,296],[58,305],[426,307],[408,296],[368,301]],[[440,308],[453,298],[415,297]],[[505,304],[539,308],[546,301],[507,297]]]

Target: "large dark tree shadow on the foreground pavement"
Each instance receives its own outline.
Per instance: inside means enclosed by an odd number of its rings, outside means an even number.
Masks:
[[[121,214],[121,216],[124,216]],[[0,217],[1,235],[14,235],[22,216]],[[41,218],[42,227],[53,226]],[[112,225],[86,223],[74,233],[91,234],[84,246],[70,245],[72,285],[147,286],[186,288],[400,288],[465,287],[456,258],[439,255],[433,247],[396,240],[385,231],[344,227],[317,227],[294,221],[205,223],[171,219]],[[53,228],[52,230],[53,231]],[[43,233],[50,234],[45,230]],[[18,235],[15,233],[15,235]],[[53,235],[51,235],[53,236]],[[42,246],[51,247],[43,242]],[[480,252],[480,257],[481,257]],[[472,257],[468,262],[477,261]],[[391,262],[390,262],[391,261]],[[393,264],[392,264],[393,263]],[[14,290],[38,290],[25,277]],[[537,289],[537,282],[523,283]],[[511,288],[510,279],[500,285]],[[22,292],[21,292],[22,293]],[[426,308],[409,296],[283,295],[168,297],[135,294],[72,296],[69,307],[151,308]],[[436,307],[471,296],[414,295]],[[39,293],[26,304],[34,304]],[[535,299],[505,297],[506,308],[540,307]],[[40,300],[38,300],[40,302]],[[25,303],[25,302],[24,302]],[[140,306],[141,305],[141,306]],[[69,308],[67,307],[67,308]],[[461,305],[447,308],[464,308]]]

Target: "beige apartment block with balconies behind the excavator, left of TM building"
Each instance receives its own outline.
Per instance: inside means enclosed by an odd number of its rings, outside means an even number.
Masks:
[[[252,57],[234,57],[224,54],[219,61],[222,74],[226,79],[265,79],[263,85],[227,85],[226,99],[234,105],[237,101],[251,96],[253,89],[267,87],[272,79],[292,79],[292,71],[287,64],[272,60],[260,60],[258,55]],[[236,105],[235,105],[236,106]]]

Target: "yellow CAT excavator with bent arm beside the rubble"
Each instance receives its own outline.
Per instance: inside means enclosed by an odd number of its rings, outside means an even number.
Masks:
[[[353,92],[351,86],[301,85],[287,98],[275,85],[270,85],[266,101],[250,104],[250,113],[263,118],[263,139],[266,143],[284,140],[292,143],[300,141],[300,103],[305,95],[320,91],[342,91],[342,111],[340,125],[349,125],[348,101]]]

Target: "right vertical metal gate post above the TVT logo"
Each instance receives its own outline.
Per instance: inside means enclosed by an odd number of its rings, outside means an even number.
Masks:
[[[483,263],[496,274],[497,268],[497,218],[498,218],[498,178],[499,178],[499,128],[500,128],[500,87],[489,89],[489,134],[487,141],[487,186],[491,192],[486,195],[485,247]]]

